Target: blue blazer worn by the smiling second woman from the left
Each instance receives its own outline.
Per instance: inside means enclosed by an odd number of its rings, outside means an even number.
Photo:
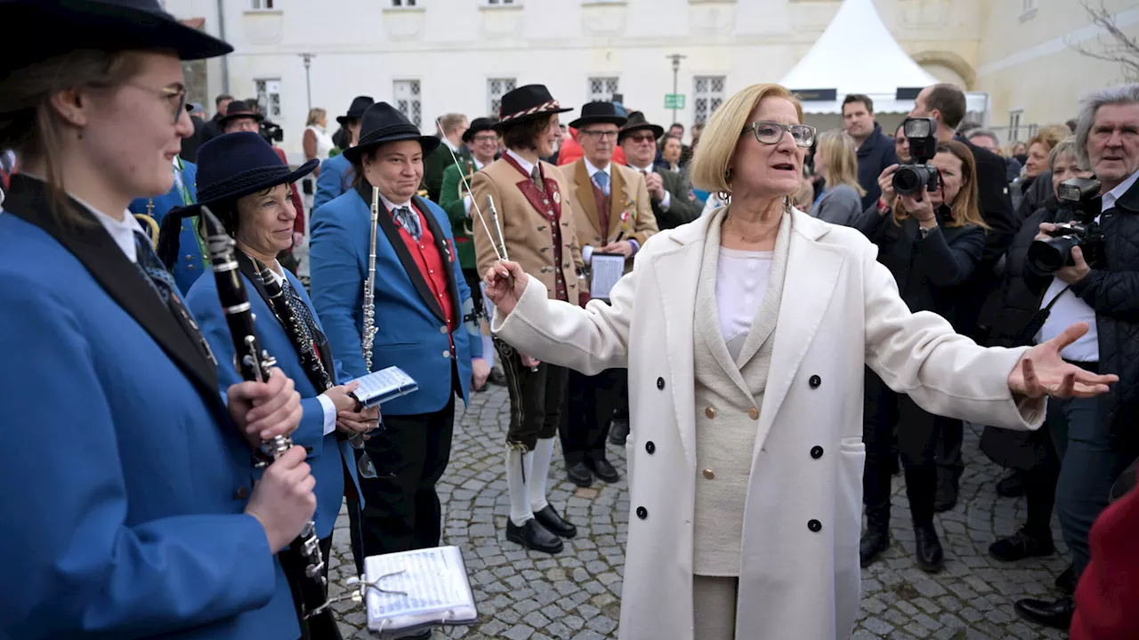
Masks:
[[[248,261],[245,263],[252,269],[252,263]],[[309,301],[309,294],[305,293],[304,287],[288,271],[285,272],[285,276],[293,288],[300,293],[301,300],[309,306],[313,319],[320,326],[320,318],[312,309],[312,302]],[[261,347],[277,359],[277,366],[293,379],[297,393],[301,394],[301,407],[304,415],[301,418],[301,426],[293,432],[292,438],[294,444],[304,446],[309,452],[308,461],[312,467],[313,477],[317,478],[317,489],[314,490],[317,494],[314,518],[317,535],[325,539],[333,534],[333,525],[336,524],[336,516],[341,512],[341,504],[344,501],[345,460],[351,461],[347,469],[352,474],[352,481],[357,484],[359,493],[359,483],[355,477],[355,454],[347,441],[338,442],[336,432],[325,435],[325,411],[320,401],[317,400],[321,392],[317,391],[312,381],[309,380],[301,363],[301,356],[297,355],[296,348],[289,342],[288,334],[277,321],[269,304],[259,294],[254,279],[251,279],[244,269],[241,279],[245,281],[245,288],[249,294],[249,304],[253,305],[253,313],[257,319],[257,338],[261,339]],[[197,320],[202,333],[210,342],[210,347],[218,356],[218,380],[224,392],[231,385],[241,381],[241,377],[233,368],[233,339],[230,337],[221,303],[218,302],[218,281],[214,278],[202,278],[195,282],[186,296],[186,306],[194,314],[194,319]],[[330,371],[333,384],[347,381],[347,376],[339,361],[334,360],[333,363],[334,370]]]

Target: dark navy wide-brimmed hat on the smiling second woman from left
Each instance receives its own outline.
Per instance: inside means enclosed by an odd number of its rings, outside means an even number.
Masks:
[[[202,145],[197,164],[198,202],[174,207],[162,220],[157,253],[167,268],[178,262],[183,218],[198,215],[203,205],[232,202],[278,184],[292,184],[316,171],[320,161],[311,159],[293,171],[260,133],[236,131],[211,138]]]

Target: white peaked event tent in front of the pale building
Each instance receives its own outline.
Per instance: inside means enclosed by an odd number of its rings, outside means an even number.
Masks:
[[[917,90],[936,82],[894,40],[872,0],[843,0],[811,50],[779,81],[801,93],[808,114],[818,115],[842,114],[847,93],[869,96],[876,114],[907,114]],[[902,99],[899,89],[909,90]],[[812,99],[830,98],[831,91],[831,99]],[[986,93],[966,93],[966,99],[970,114],[988,112]]]

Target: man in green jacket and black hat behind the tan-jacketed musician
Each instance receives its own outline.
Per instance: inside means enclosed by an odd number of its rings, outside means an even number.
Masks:
[[[478,221],[475,220],[475,212],[470,206],[472,198],[468,189],[470,181],[475,178],[475,172],[482,171],[484,166],[498,158],[499,134],[494,131],[494,121],[489,117],[476,117],[462,133],[462,141],[470,154],[466,157],[456,155],[448,161],[450,164],[443,171],[443,186],[440,189],[439,205],[443,207],[451,220],[454,244],[459,251],[459,264],[462,266],[462,276],[467,279],[467,286],[470,287],[470,295],[475,300],[475,311],[489,318],[493,313],[493,309],[485,306],[482,294],[482,277],[475,263],[473,232],[474,225],[478,224]],[[435,153],[445,150],[441,145]],[[494,344],[490,333],[483,335],[483,358],[491,368],[487,379],[497,385],[505,385],[506,375],[501,368],[494,367]]]

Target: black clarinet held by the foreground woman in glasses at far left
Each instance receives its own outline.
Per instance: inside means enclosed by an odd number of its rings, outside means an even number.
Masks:
[[[261,343],[257,340],[249,297],[237,265],[235,253],[237,243],[229,237],[221,221],[206,206],[202,207],[202,220],[205,223],[206,244],[213,262],[214,278],[218,280],[218,298],[226,311],[226,322],[233,338],[233,364],[243,379],[264,381],[269,379],[277,360],[261,348]],[[282,435],[262,442],[255,451],[254,467],[264,468],[292,446],[293,441]],[[301,620],[317,615],[327,615],[330,620],[328,581],[325,579],[325,563],[320,555],[320,542],[317,540],[317,524],[309,520],[296,540],[281,553],[294,555],[304,561],[305,580],[300,584]]]

